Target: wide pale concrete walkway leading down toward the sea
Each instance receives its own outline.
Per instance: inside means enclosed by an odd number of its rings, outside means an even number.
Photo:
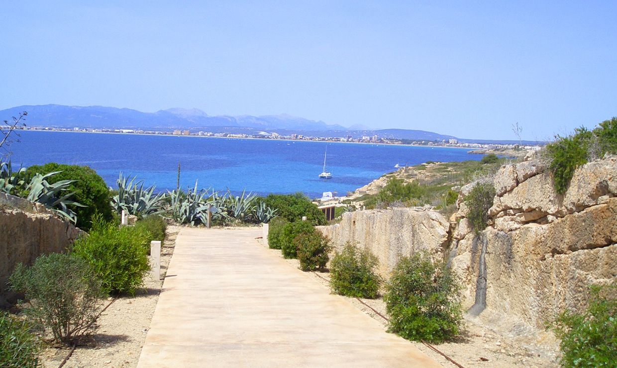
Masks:
[[[441,367],[260,235],[180,232],[138,367]]]

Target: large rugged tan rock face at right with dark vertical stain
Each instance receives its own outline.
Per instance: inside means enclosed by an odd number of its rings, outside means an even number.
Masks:
[[[459,203],[450,264],[465,308],[543,327],[561,311],[584,308],[590,284],[617,277],[617,158],[578,168],[565,195],[545,168],[539,160],[502,166],[492,225],[478,235]]]

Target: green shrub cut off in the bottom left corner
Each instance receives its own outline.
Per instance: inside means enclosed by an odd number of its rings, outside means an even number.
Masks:
[[[0,311],[0,366],[38,367],[38,344],[25,321]]]

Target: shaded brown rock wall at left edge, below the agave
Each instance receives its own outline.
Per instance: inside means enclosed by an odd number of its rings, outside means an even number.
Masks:
[[[17,264],[30,264],[47,253],[62,253],[79,233],[73,224],[49,213],[0,210],[0,308],[6,306],[7,279]]]

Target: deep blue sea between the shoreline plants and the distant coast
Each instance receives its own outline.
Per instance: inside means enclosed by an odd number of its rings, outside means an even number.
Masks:
[[[404,145],[278,141],[193,136],[154,136],[22,131],[13,142],[13,165],[47,162],[90,166],[111,187],[118,174],[136,176],[157,190],[175,189],[178,163],[180,185],[234,194],[254,192],[303,192],[321,197],[323,192],[345,195],[385,173],[394,165],[427,161],[480,160],[465,149]],[[326,171],[332,179],[319,179],[324,152]]]

